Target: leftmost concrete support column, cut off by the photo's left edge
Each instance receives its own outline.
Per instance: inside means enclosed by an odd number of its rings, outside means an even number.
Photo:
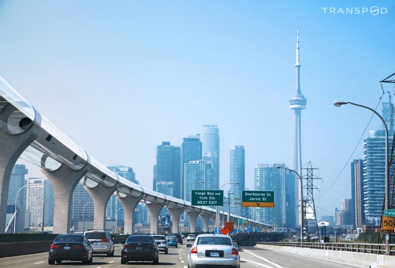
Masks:
[[[38,137],[39,127],[33,125],[19,135],[0,131],[0,234],[5,233],[8,190],[12,169],[23,151]]]

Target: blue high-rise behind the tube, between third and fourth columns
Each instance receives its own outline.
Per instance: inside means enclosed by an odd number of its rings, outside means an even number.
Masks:
[[[130,166],[110,165],[107,166],[107,168],[113,171],[115,174],[126,178],[126,180],[135,184],[139,184],[139,181],[136,180],[136,173]],[[121,208],[121,202],[116,198],[116,196],[112,195],[107,203],[106,218],[123,221],[125,213],[124,210]],[[118,223],[117,226],[122,226],[122,222]]]

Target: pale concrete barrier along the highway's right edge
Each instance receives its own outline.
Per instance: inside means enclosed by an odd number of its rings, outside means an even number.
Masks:
[[[257,247],[368,268],[393,268],[395,256],[258,244]]]

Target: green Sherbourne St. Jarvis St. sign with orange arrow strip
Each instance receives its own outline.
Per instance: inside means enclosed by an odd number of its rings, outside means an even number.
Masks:
[[[274,191],[242,191],[244,207],[274,207]]]

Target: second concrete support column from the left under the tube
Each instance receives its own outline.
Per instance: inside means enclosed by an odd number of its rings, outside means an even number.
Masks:
[[[88,170],[87,166],[81,170],[71,170],[64,165],[55,171],[41,169],[54,189],[54,211],[57,212],[54,217],[54,234],[68,234],[70,232],[74,188]]]

